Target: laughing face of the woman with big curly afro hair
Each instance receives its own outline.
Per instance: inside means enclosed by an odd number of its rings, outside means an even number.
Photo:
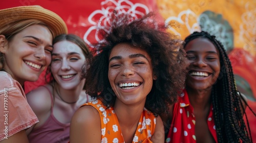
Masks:
[[[151,57],[127,43],[113,47],[109,57],[109,81],[117,101],[135,104],[145,101],[153,85]]]

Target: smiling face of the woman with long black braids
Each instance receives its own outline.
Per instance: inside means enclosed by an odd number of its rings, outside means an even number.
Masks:
[[[190,63],[186,86],[192,89],[211,87],[220,74],[219,51],[206,38],[196,38],[184,47]]]

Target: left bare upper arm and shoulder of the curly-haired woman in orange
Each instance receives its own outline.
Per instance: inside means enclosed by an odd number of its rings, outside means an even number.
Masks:
[[[92,106],[79,108],[70,124],[70,143],[101,142],[101,123],[98,111]]]

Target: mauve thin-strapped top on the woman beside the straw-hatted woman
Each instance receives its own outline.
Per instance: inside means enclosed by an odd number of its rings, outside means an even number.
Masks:
[[[70,123],[60,123],[53,115],[53,96],[50,90],[44,86],[51,95],[51,115],[40,127],[33,129],[28,135],[30,143],[57,143],[69,141]]]

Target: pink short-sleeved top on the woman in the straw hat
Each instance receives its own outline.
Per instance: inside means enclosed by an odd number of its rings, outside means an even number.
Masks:
[[[38,123],[22,86],[0,71],[0,141]]]

